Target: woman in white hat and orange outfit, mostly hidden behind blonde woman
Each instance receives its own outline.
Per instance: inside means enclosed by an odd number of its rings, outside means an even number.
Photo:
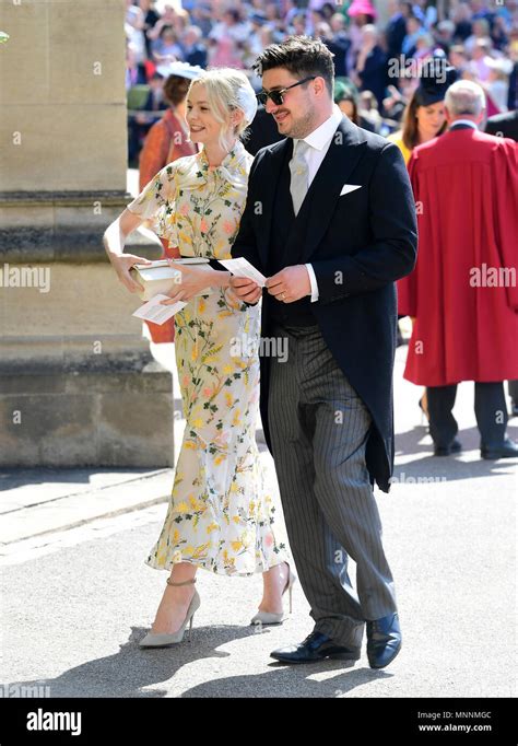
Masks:
[[[139,158],[139,189],[161,171],[167,163],[178,158],[193,155],[197,145],[189,139],[186,125],[186,96],[189,84],[199,77],[201,68],[187,62],[170,62],[160,65],[156,72],[164,80],[164,97],[169,104],[164,116],[155,123],[145,138]],[[169,246],[166,238],[161,238],[163,252],[161,259],[179,257],[176,246]],[[151,339],[155,343],[173,342],[175,339],[175,324],[173,319],[158,325],[145,322]]]

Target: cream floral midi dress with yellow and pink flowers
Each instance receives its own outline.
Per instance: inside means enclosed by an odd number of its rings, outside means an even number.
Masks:
[[[178,159],[128,209],[154,220],[181,256],[231,258],[251,161],[239,141],[215,170],[203,150]],[[255,436],[260,313],[260,303],[213,288],[175,315],[186,430],[165,523],[145,560],[152,568],[191,562],[249,575],[287,559]]]

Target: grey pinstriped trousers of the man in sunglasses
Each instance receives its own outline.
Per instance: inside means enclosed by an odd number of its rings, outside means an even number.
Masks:
[[[365,463],[372,417],[319,327],[275,325],[272,336],[287,337],[287,359],[270,361],[268,420],[301,585],[315,630],[357,649],[365,620],[397,610]]]

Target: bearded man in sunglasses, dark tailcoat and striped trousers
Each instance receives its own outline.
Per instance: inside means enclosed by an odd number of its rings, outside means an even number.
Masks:
[[[290,37],[255,67],[285,139],[256,155],[232,255],[268,278],[262,337],[289,342],[287,360],[261,353],[260,406],[315,621],[271,655],[357,660],[366,622],[369,664],[381,668],[401,632],[373,486],[388,492],[393,466],[395,281],[415,264],[412,191],[399,149],[333,104],[321,42]],[[251,280],[231,282],[259,301]]]

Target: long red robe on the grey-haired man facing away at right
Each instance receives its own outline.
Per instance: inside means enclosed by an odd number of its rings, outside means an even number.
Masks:
[[[472,128],[415,148],[414,271],[399,313],[416,318],[404,377],[424,386],[518,378],[518,151]],[[496,287],[493,287],[496,282]]]

